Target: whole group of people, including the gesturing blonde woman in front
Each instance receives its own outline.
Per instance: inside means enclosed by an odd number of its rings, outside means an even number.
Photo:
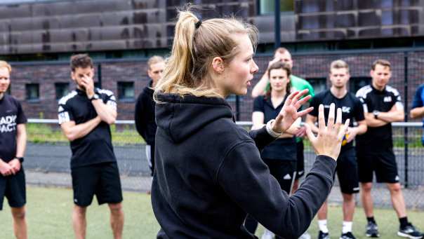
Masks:
[[[315,214],[317,237],[329,238],[326,198],[336,173],[343,196],[341,239],[355,238],[359,191],[365,234],[380,236],[371,196],[374,174],[390,191],[397,235],[423,238],[407,218],[393,153],[391,123],[404,120],[404,107],[388,85],[390,62],[374,61],[371,84],[351,93],[349,66],[333,61],[331,88],[314,94],[310,83],[293,75],[289,51],[278,48],[253,87],[253,127],[247,132],[225,98],[248,92],[258,71],[257,36],[256,27],[234,18],[202,21],[190,9],[180,11],[171,55],[147,62],[151,81],[136,101],[135,125],[147,144],[152,207],[161,226],[157,238],[256,238],[258,223],[266,228],[264,239],[310,238],[307,228]],[[112,91],[94,87],[91,57],[73,55],[70,68],[76,89],[58,102],[58,120],[72,151],[74,235],[86,238],[86,209],[96,196],[99,205],[109,206],[113,236],[121,238],[123,197],[110,132],[117,102]],[[0,61],[0,210],[7,198],[15,236],[27,238],[22,167],[27,118],[6,93],[11,71]],[[424,116],[423,102],[420,86],[411,117]],[[305,137],[317,153],[307,175]]]

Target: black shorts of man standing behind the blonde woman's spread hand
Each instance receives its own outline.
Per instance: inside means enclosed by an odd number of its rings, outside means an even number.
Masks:
[[[359,193],[358,164],[355,148],[347,149],[337,158],[337,176],[342,193]]]

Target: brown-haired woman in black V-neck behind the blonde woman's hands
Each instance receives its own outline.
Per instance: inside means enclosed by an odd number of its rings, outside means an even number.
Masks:
[[[268,68],[270,78],[270,90],[265,95],[260,95],[253,102],[252,130],[260,129],[265,122],[277,117],[287,96],[290,94],[291,68],[283,62],[275,62]],[[265,146],[260,157],[270,168],[282,190],[291,192],[293,181],[296,179],[296,138],[294,135],[299,130],[300,118],[295,124],[282,134],[277,140]],[[250,215],[246,218],[246,229],[255,233],[258,222]],[[265,231],[265,235],[268,235]],[[277,237],[278,238],[278,237]]]

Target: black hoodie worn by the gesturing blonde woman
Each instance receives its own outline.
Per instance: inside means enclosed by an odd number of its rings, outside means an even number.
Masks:
[[[318,156],[300,189],[281,191],[258,149],[274,140],[246,132],[225,100],[159,95],[152,206],[157,238],[256,238],[246,213],[284,238],[298,238],[330,193],[336,161]]]

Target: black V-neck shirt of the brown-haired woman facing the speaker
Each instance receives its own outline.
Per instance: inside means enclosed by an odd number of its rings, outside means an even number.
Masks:
[[[283,102],[276,108],[272,105],[271,97],[265,97],[263,95],[255,98],[253,102],[253,112],[260,111],[264,114],[264,123],[276,118],[279,111],[283,108],[284,102],[288,95],[284,98]],[[261,158],[268,159],[280,159],[284,161],[296,161],[296,138],[283,138],[276,139],[271,144],[268,144],[263,151],[260,153]]]

